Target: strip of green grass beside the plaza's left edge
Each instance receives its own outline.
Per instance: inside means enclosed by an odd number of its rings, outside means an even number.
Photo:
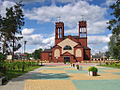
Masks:
[[[6,71],[5,75],[8,77],[8,80],[11,80],[12,78],[16,78],[20,75],[23,75],[23,74],[25,74],[29,71],[32,71],[34,69],[37,69],[39,67],[41,67],[41,66],[31,66],[28,69],[25,69],[24,72],[22,72],[22,70],[9,70],[9,71]]]

